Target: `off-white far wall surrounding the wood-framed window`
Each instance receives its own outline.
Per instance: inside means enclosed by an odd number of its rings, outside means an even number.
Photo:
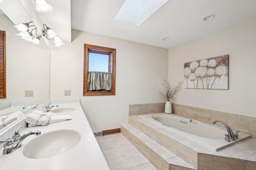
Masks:
[[[72,30],[72,43],[50,51],[50,99],[81,99],[93,131],[128,122],[129,104],[164,102],[158,79],[167,78],[168,49]],[[116,49],[116,95],[83,96],[84,43]],[[71,96],[64,96],[71,90]]]

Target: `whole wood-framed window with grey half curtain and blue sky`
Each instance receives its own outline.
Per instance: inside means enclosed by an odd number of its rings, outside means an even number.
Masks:
[[[116,49],[84,44],[84,96],[115,95]]]

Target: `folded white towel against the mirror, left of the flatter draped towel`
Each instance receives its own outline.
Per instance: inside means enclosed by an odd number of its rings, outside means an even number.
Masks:
[[[52,116],[52,112],[43,112],[40,110],[34,110],[32,113],[28,114],[25,121],[32,125],[47,125],[50,117]]]

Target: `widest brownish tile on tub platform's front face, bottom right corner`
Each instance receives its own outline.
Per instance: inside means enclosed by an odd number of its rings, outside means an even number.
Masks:
[[[222,156],[214,156],[214,170],[246,170],[246,161]]]

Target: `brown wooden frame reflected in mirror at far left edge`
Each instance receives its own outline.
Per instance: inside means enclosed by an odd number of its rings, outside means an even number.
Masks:
[[[0,30],[0,98],[6,98],[6,32]]]

